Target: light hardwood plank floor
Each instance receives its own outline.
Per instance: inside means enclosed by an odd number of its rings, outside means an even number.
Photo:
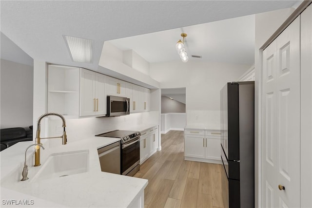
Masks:
[[[145,208],[223,208],[222,166],[184,160],[182,131],[161,134],[161,151],[134,177],[148,179]]]

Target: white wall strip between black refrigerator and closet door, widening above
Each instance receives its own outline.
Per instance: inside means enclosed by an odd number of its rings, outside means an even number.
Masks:
[[[259,48],[292,14],[294,8],[281,9],[255,15],[255,207],[261,206],[261,82],[262,56]]]

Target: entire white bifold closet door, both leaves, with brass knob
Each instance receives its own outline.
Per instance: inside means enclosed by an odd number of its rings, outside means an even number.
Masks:
[[[262,206],[300,207],[300,17],[264,50],[262,86]]]

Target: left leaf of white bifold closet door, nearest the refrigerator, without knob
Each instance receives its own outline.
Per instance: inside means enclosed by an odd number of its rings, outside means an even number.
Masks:
[[[276,198],[276,41],[263,51],[262,64],[262,207]]]

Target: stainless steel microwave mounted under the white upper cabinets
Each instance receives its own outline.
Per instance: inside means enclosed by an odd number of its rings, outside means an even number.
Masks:
[[[114,117],[130,114],[130,98],[107,96],[107,112],[106,117]]]

